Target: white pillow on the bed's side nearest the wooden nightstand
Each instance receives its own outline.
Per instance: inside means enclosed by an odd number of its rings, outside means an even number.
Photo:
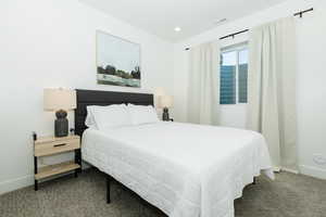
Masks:
[[[114,104],[108,106],[87,106],[91,122],[93,118],[97,129],[110,129],[116,127],[130,126],[130,117],[125,104]]]

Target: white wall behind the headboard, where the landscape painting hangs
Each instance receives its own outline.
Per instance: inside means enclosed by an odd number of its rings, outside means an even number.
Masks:
[[[172,89],[172,43],[77,0],[5,0],[0,26],[0,194],[33,183],[30,133],[53,133],[54,114],[42,110],[45,87]],[[141,89],[96,84],[97,29],[140,43]]]

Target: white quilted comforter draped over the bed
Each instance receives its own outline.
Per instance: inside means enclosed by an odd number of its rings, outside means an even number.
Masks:
[[[87,129],[83,159],[170,217],[234,217],[254,176],[274,178],[260,133],[180,123]]]

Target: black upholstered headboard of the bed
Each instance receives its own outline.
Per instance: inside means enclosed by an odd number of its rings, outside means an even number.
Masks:
[[[137,105],[153,105],[153,94],[135,92],[113,92],[100,90],[76,90],[77,108],[75,110],[75,133],[82,137],[87,127],[85,119],[87,105],[111,105],[133,103]]]

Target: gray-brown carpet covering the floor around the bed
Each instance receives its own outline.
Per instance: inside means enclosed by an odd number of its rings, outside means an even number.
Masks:
[[[105,179],[95,169],[79,178],[60,178],[0,196],[1,217],[163,217],[117,183],[105,203]],[[325,217],[326,181],[287,173],[248,186],[235,202],[237,217]]]

